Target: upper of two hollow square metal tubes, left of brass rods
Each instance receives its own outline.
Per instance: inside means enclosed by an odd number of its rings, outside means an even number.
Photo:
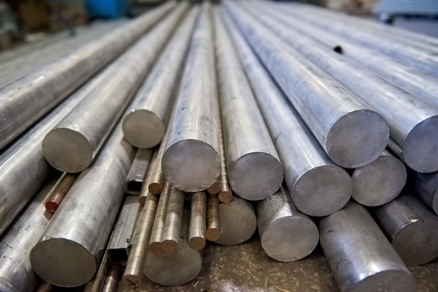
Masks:
[[[126,176],[125,193],[140,195],[141,186],[145,182],[146,171],[151,161],[152,150],[138,149]]]

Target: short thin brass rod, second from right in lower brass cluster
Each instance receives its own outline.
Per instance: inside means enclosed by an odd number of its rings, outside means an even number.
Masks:
[[[188,244],[194,250],[205,247],[205,230],[207,224],[207,196],[205,191],[193,193],[190,209],[190,227]]]

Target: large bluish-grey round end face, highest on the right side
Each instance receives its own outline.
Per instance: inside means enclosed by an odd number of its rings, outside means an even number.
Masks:
[[[329,157],[339,166],[357,168],[376,160],[388,144],[389,127],[373,110],[351,111],[339,118],[326,139]]]

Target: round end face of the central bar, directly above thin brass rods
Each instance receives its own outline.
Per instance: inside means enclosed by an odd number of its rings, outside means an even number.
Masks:
[[[162,173],[181,191],[203,191],[215,183],[220,174],[220,157],[203,141],[185,139],[172,144],[163,154]]]

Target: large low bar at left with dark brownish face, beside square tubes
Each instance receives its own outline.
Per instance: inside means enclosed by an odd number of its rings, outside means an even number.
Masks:
[[[32,268],[44,281],[74,287],[93,277],[122,203],[134,155],[119,123],[30,252]]]

